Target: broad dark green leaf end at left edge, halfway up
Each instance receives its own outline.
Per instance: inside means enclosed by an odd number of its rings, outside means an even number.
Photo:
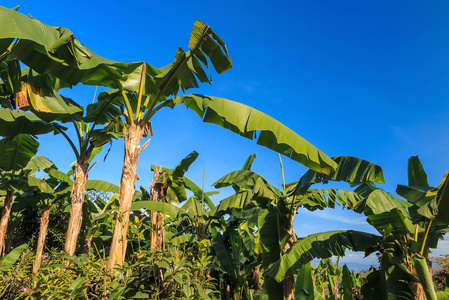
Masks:
[[[28,134],[0,140],[0,169],[14,171],[24,168],[36,155],[39,142]]]

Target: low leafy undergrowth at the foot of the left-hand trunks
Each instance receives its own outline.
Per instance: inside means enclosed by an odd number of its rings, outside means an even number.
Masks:
[[[142,250],[111,273],[107,259],[53,252],[32,274],[33,253],[2,270],[1,299],[219,299],[206,266],[178,250]],[[71,261],[70,266],[65,262]]]

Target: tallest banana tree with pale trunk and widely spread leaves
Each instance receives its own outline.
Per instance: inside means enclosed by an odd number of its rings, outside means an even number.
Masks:
[[[116,222],[110,268],[115,262],[123,262],[126,250],[130,195],[137,178],[138,156],[147,145],[140,146],[140,139],[151,132],[151,117],[163,107],[184,104],[203,121],[218,124],[247,138],[252,139],[260,132],[258,144],[312,169],[330,173],[336,167],[335,162],[296,133],[243,104],[199,95],[167,99],[170,95],[176,96],[180,88],[185,91],[198,87],[197,79],[210,82],[211,78],[206,74],[208,58],[218,73],[231,67],[224,42],[204,23],[195,23],[189,51],[179,48],[174,63],[156,69],[146,63],[119,64],[96,56],[64,28],[46,26],[5,8],[0,9],[0,15],[0,43],[3,45],[0,50],[5,60],[20,60],[41,74],[51,73],[69,84],[82,82],[115,88],[100,97],[106,100],[99,101],[101,105],[90,107],[94,119],[106,115],[110,121],[114,116],[113,119],[122,125],[125,137],[119,208],[124,217],[122,222]],[[106,112],[98,113],[106,106]],[[115,116],[117,108],[112,107],[119,107],[121,121]]]

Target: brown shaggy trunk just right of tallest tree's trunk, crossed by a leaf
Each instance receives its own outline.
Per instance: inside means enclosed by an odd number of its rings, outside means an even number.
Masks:
[[[150,184],[150,200],[151,201],[159,201],[165,202],[165,194],[167,191],[167,182],[158,183],[157,181],[162,176],[161,170],[154,170],[153,181]],[[164,249],[164,236],[165,236],[165,228],[163,228],[164,217],[158,211],[150,212],[151,217],[151,244],[150,249],[153,250],[162,250]]]

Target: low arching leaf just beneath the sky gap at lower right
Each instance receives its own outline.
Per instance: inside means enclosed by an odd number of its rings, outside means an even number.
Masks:
[[[312,234],[297,240],[290,251],[276,261],[265,275],[280,282],[312,259],[328,258],[333,255],[344,256],[345,249],[365,251],[374,246],[379,239],[377,235],[354,230]]]

